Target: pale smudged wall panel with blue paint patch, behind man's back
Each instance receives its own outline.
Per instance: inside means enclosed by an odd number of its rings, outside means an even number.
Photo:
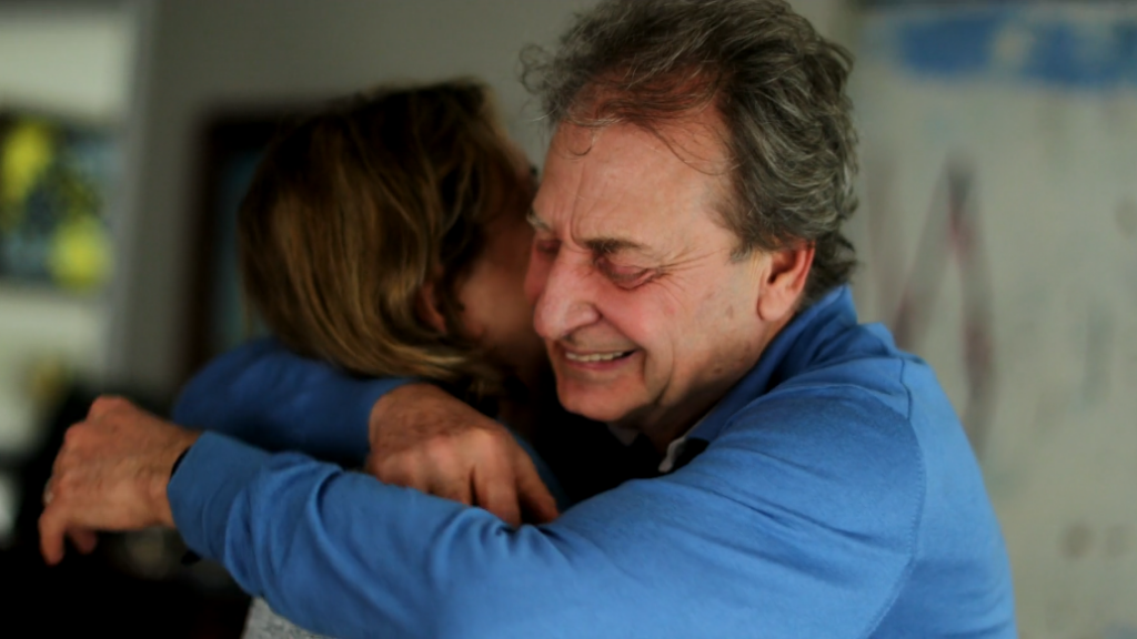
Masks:
[[[1137,3],[860,24],[862,315],[956,405],[1022,636],[1137,638]]]

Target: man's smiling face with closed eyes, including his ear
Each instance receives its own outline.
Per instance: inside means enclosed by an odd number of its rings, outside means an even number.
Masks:
[[[565,408],[682,433],[756,362],[769,257],[731,258],[714,206],[725,153],[695,121],[665,131],[563,124],[533,202],[525,279]]]

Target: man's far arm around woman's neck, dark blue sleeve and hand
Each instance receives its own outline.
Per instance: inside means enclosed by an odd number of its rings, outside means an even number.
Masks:
[[[549,521],[564,491],[529,442],[445,391],[406,377],[352,377],[274,339],[211,362],[183,389],[175,423],[273,451],[301,451],[387,483],[479,504],[506,521]],[[445,409],[430,412],[442,403]],[[407,423],[400,410],[416,410]]]

